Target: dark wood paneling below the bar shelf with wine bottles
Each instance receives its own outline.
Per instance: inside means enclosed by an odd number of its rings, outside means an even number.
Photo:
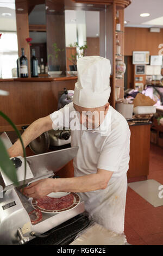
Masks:
[[[58,94],[66,89],[74,89],[77,80],[56,82],[1,82],[0,89],[7,90],[8,96],[1,96],[0,109],[21,127],[45,117],[57,110]],[[0,130],[9,124],[0,118]]]

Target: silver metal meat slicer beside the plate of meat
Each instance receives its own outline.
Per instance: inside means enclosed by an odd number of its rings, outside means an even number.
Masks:
[[[1,139],[7,149],[11,147],[12,143],[5,132]],[[25,184],[53,178],[55,172],[71,161],[77,152],[78,147],[73,147],[27,157]],[[26,243],[34,239],[33,234],[41,235],[84,212],[84,202],[80,202],[76,207],[57,214],[42,212],[42,220],[32,224],[29,216],[29,212],[34,210],[31,198],[28,199],[20,192],[24,180],[24,158],[18,156],[16,161],[19,187],[15,187],[0,170],[0,245]]]

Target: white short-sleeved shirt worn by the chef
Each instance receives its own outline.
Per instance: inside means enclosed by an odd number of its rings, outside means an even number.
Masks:
[[[65,108],[68,110],[65,112]],[[73,102],[50,115],[53,129],[69,127],[75,111]],[[58,123],[56,123],[56,115]],[[61,115],[64,121],[61,120]],[[67,115],[67,116],[65,116]],[[69,119],[70,117],[70,119]],[[54,124],[55,121],[55,124]],[[77,156],[73,160],[74,176],[95,174],[97,169],[114,172],[111,179],[118,178],[127,173],[129,164],[130,129],[126,119],[109,106],[105,121],[99,130],[71,130],[71,146],[79,147]]]

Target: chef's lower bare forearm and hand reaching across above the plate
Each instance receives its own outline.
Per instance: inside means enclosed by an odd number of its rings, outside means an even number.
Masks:
[[[98,169],[96,174],[74,178],[42,179],[24,188],[28,197],[43,197],[51,192],[86,192],[104,190],[113,172]]]

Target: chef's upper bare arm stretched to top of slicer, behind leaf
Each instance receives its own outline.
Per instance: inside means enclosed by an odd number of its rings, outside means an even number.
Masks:
[[[26,131],[22,134],[22,141],[24,147],[32,142],[35,138],[39,137],[43,132],[52,130],[52,120],[47,115],[47,117],[39,118],[29,125]],[[8,154],[10,157],[23,156],[23,149],[20,139],[18,139],[11,148],[8,149]]]

